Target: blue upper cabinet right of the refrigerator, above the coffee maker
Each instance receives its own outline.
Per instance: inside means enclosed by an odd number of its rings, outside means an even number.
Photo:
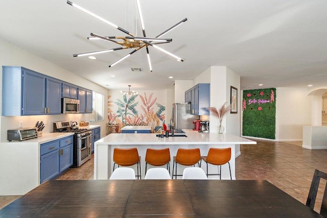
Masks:
[[[191,114],[209,115],[206,109],[210,107],[210,84],[199,83],[185,91],[185,103],[191,102]]]

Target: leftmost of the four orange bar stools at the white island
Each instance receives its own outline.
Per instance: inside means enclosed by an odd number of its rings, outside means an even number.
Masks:
[[[132,166],[137,164],[137,179],[141,179],[141,157],[138,156],[138,152],[136,148],[131,149],[113,149],[113,170],[115,164],[119,166]],[[139,168],[139,174],[138,174]]]

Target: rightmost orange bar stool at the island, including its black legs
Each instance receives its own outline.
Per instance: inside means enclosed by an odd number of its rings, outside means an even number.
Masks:
[[[207,156],[201,156],[201,160],[204,160],[206,162],[206,176],[219,175],[219,178],[221,179],[221,165],[228,163],[229,174],[231,179],[230,164],[229,164],[230,158],[231,158],[231,148],[226,148],[226,149],[210,148]],[[220,166],[220,174],[208,174],[208,163]]]

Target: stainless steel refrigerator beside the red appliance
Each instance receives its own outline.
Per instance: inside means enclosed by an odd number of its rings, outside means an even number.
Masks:
[[[174,103],[172,119],[175,130],[193,129],[193,120],[199,119],[199,115],[191,114],[191,104]]]

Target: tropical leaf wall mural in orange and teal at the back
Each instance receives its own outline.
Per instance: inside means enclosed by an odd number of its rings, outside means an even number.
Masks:
[[[166,122],[166,107],[158,99],[161,96],[152,92],[147,94],[108,95],[108,125],[111,132],[121,132],[126,125],[149,125],[152,133],[160,132]]]

